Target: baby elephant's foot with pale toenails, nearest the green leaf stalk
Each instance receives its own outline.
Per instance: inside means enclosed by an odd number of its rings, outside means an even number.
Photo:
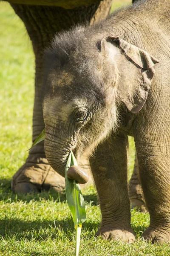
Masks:
[[[135,241],[135,234],[131,228],[118,229],[101,227],[96,232],[96,236],[101,236],[103,240],[111,239],[113,241],[122,241],[126,243],[132,243]]]

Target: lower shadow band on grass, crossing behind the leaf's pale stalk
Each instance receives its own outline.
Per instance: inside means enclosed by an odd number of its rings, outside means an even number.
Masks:
[[[99,223],[86,221],[83,224],[83,231],[92,232],[97,230]],[[67,217],[62,221],[35,220],[23,221],[20,219],[4,219],[0,220],[0,236],[8,239],[21,239],[43,241],[45,239],[62,239],[63,232],[67,239],[72,240],[75,232],[72,217]]]

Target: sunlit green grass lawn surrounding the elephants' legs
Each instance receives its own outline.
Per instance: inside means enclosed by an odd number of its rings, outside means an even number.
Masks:
[[[120,6],[124,1],[114,1]],[[125,0],[128,3],[129,0]],[[34,99],[34,54],[26,29],[8,3],[0,2],[0,256],[73,256],[74,223],[65,193],[14,195],[12,175],[24,163],[31,146]],[[134,144],[130,138],[129,176]],[[169,245],[140,239],[149,215],[132,211],[134,244],[95,238],[101,221],[93,186],[83,191],[87,221],[83,224],[80,256],[168,256]]]

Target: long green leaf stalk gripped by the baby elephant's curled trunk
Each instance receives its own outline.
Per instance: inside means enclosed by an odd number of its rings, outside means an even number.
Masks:
[[[76,158],[74,157],[73,152],[70,152],[68,157],[67,165],[65,168],[65,192],[67,197],[67,203],[71,210],[74,226],[76,229],[76,248],[75,256],[79,254],[79,245],[80,245],[80,234],[82,223],[86,220],[86,211],[85,211],[85,201],[80,189],[79,184],[76,180],[68,179],[67,171],[70,166],[77,166]]]

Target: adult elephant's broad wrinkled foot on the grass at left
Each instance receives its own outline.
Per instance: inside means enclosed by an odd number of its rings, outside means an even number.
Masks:
[[[11,188],[14,193],[41,192],[50,188],[60,192],[65,188],[64,178],[51,168],[46,158],[30,158],[13,176]]]

